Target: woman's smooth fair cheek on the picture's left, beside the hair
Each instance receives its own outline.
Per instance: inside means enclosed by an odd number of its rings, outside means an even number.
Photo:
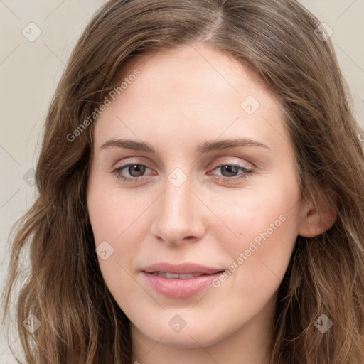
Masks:
[[[96,181],[90,185],[87,206],[100,269],[110,287],[128,280],[126,270],[129,272],[136,260],[140,242],[148,232],[145,210],[153,199],[144,196],[143,203],[135,203],[137,196],[132,191],[106,186]],[[100,254],[101,247],[107,254]],[[105,256],[107,259],[102,259]]]

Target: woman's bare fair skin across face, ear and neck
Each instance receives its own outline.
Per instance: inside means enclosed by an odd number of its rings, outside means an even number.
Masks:
[[[200,43],[129,60],[124,77],[135,69],[139,77],[97,119],[87,186],[95,245],[107,241],[114,250],[98,259],[131,321],[132,363],[268,363],[277,289],[296,237],[332,224],[301,198],[279,100],[235,58]],[[253,114],[240,106],[249,95],[260,104]],[[196,152],[205,141],[237,137],[268,148]],[[100,148],[121,138],[149,142],[159,154]],[[129,161],[148,167],[137,183],[112,172]],[[253,172],[237,180],[244,171],[233,176],[219,164]],[[178,187],[168,180],[175,168],[186,176]],[[140,176],[134,168],[119,173]],[[151,289],[140,272],[162,261],[229,269],[282,215],[284,222],[235,263],[220,287],[173,299]],[[186,321],[178,333],[168,326],[176,314]]]

